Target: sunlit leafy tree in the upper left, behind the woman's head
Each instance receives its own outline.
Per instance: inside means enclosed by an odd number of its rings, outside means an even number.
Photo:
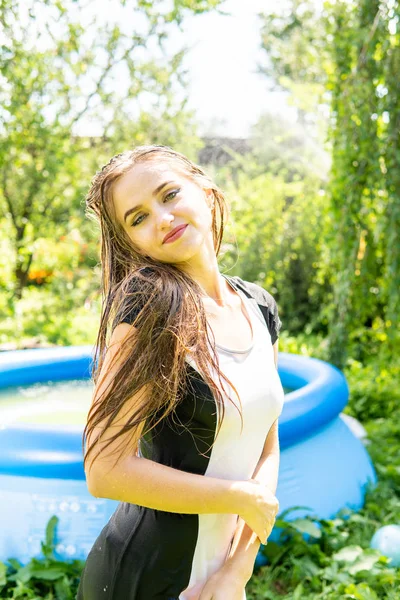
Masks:
[[[0,211],[12,226],[16,299],[27,284],[35,239],[60,235],[70,215],[82,212],[84,182],[101,160],[144,140],[182,140],[175,147],[195,155],[184,49],[169,57],[165,43],[185,13],[220,2],[174,0],[163,10],[160,0],[121,0],[99,25],[88,13],[93,3],[83,0],[3,0]],[[113,22],[119,9],[126,18]],[[77,134],[84,119],[97,120],[92,142]]]

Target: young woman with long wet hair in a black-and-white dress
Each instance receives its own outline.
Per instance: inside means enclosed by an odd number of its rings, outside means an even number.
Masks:
[[[119,504],[77,600],[244,600],[279,508],[276,302],[220,273],[223,193],[171,148],[113,157],[86,202],[103,310],[84,465]]]

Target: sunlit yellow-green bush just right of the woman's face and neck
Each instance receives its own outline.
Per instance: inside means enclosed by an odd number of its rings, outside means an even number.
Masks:
[[[331,292],[324,247],[330,221],[321,179],[301,177],[294,165],[275,175],[255,151],[235,157],[218,179],[231,205],[221,267],[269,290],[284,329],[326,333],[321,307]]]

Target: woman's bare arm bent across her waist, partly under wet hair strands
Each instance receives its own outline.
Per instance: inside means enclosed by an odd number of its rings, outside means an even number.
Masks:
[[[94,391],[93,402],[115,376],[118,363],[123,358],[121,343],[125,336],[134,330],[135,328],[127,323],[120,323],[114,329]],[[242,502],[245,501],[244,482],[188,473],[139,457],[137,446],[143,425],[133,433],[131,431],[119,436],[91,461],[101,446],[115,435],[116,428],[122,427],[139,403],[146,401],[146,393],[151,393],[151,390],[142,388],[126,401],[117,419],[91,450],[87,459],[90,468],[86,470],[89,492],[99,498],[130,502],[168,512],[239,514]],[[100,425],[88,436],[86,452],[93,434],[100,431],[99,428]],[[113,448],[121,448],[121,445],[127,451],[115,464],[115,452],[113,456],[110,454]]]

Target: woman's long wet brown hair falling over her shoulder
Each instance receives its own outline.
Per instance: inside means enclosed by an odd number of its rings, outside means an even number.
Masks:
[[[131,432],[132,446],[123,441],[118,458],[123,453],[139,455],[137,442],[140,437],[147,436],[168,415],[173,418],[174,409],[187,390],[187,352],[191,353],[218,403],[219,418],[213,443],[225,414],[221,389],[230,399],[221,376],[235,391],[240,403],[235,386],[219,370],[215,337],[211,331],[210,339],[208,333],[200,286],[175,265],[145,256],[117,219],[113,184],[135,164],[149,160],[167,161],[203,189],[212,190],[212,235],[216,256],[221,247],[224,223],[229,216],[222,190],[199,166],[168,146],[138,146],[117,154],[93,177],[85,200],[86,216],[100,226],[101,242],[102,306],[91,372],[95,385],[99,383],[112,331],[128,313],[134,314],[135,318],[130,321],[132,332],[123,339],[119,348],[115,376],[110,378],[108,387],[96,395],[89,409],[82,447],[85,437],[92,437],[96,427],[98,434],[84,456],[84,466],[104,431],[117,419],[124,404],[133,395],[140,396],[139,392],[142,392],[145,401],[138,403],[137,410],[129,415],[123,427],[117,428],[104,447],[107,448],[120,435]],[[218,375],[221,387],[214,382],[212,370]],[[243,427],[241,409],[238,411]],[[96,457],[99,454],[100,451]]]

